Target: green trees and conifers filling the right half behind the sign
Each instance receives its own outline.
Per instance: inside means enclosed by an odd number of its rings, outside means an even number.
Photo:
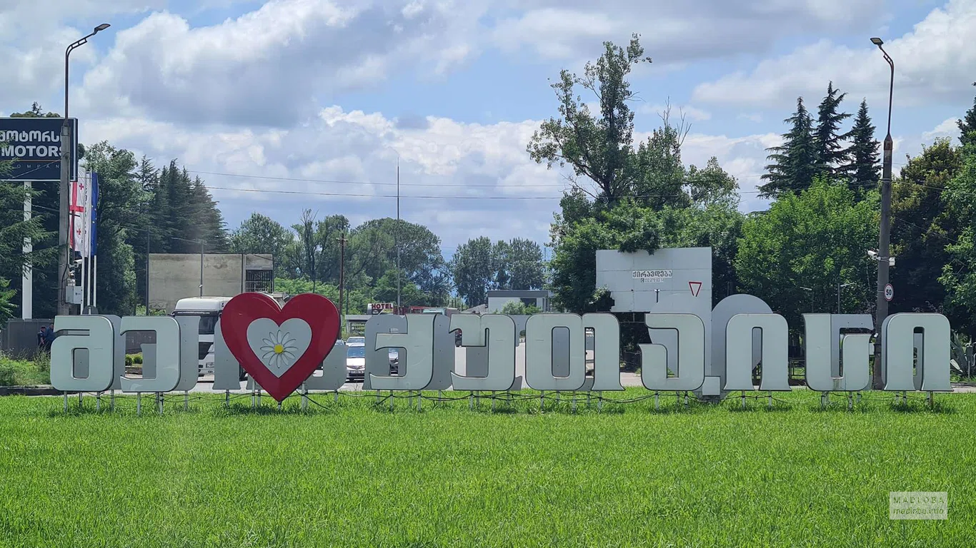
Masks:
[[[833,82],[815,115],[797,98],[758,188],[773,201],[744,215],[738,182],[714,158],[704,168],[682,164],[683,119],[665,112],[662,126],[634,144],[628,78],[650,61],[633,35],[626,47],[604,43],[582,74],[563,70],[552,84],[558,115],[527,146],[538,163],[568,166],[577,177],[551,225],[554,304],[610,309],[609,295],[595,286],[596,250],[711,246],[716,302],[756,294],[794,326],[811,311],[873,314],[877,265],[868,251],[877,247],[880,166],[867,100],[845,127],[852,115]],[[598,106],[590,108],[590,98]],[[958,129],[958,144],[935,140],[893,180],[890,312],[944,313],[972,337],[976,100]]]

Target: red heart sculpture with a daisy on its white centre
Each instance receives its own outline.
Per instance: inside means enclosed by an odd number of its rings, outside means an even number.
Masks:
[[[265,357],[264,361],[270,361],[275,371],[283,371],[280,375],[271,371],[253,347],[254,337],[264,337],[263,329],[252,329],[251,340],[249,340],[248,328],[255,324],[255,321],[260,322],[257,325],[259,328],[272,326],[266,320],[262,321],[263,319],[273,322],[274,327],[280,327],[292,319],[299,319],[307,324],[310,331],[310,333],[305,332],[302,322],[291,322],[291,326],[299,328],[291,331],[302,333],[293,335],[289,332],[282,335],[279,329],[277,335],[269,332],[266,338],[258,338],[267,343],[267,346],[259,347],[259,351]],[[273,328],[270,331],[273,331]],[[248,372],[272,398],[281,402],[301,386],[332,351],[340,333],[339,311],[331,300],[320,294],[293,296],[283,308],[279,308],[278,303],[265,294],[238,294],[224,305],[224,311],[221,313],[221,333],[224,334],[227,349],[244,371]],[[299,342],[293,342],[294,346],[288,346],[288,341],[294,341],[296,337],[299,338]],[[302,351],[306,338],[308,338],[307,347]],[[280,363],[277,361],[279,356]]]

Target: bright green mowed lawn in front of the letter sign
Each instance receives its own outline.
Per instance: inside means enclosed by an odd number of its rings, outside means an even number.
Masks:
[[[614,398],[648,392],[630,389]],[[527,399],[515,411],[371,393],[0,398],[0,546],[967,546],[976,394],[928,410],[873,393],[739,411]],[[891,491],[947,491],[949,519],[892,521]]]

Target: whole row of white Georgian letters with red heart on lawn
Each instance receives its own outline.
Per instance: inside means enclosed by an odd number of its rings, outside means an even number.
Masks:
[[[737,294],[712,310],[707,319],[711,338],[706,336],[705,320],[684,313],[645,316],[652,340],[640,345],[645,388],[700,396],[791,390],[788,326],[782,316],[771,313],[757,297]],[[866,390],[872,335],[850,332],[873,330],[871,316],[805,314],[803,320],[807,385],[822,392]],[[52,384],[70,392],[188,390],[198,378],[198,324],[193,316],[59,316],[55,329],[63,334],[52,344]],[[464,374],[455,368],[459,330],[468,355]],[[133,331],[156,335],[154,348],[144,348],[143,368],[155,371],[148,378],[125,374],[125,333]],[[515,370],[522,331],[524,379],[516,377]],[[950,325],[944,316],[895,314],[880,331],[884,390],[952,390]],[[591,375],[586,363],[588,332],[593,340]],[[346,352],[339,335],[336,306],[321,295],[300,294],[279,307],[264,294],[239,294],[227,302],[217,323],[213,389],[239,390],[239,365],[250,373],[248,388],[264,389],[279,402],[296,390],[338,390],[346,382]],[[391,348],[399,351],[396,374],[390,372]],[[501,314],[382,314],[367,323],[366,349],[367,390],[507,391],[519,389],[523,380],[530,388],[546,391],[624,389],[620,324],[613,314],[553,313],[527,319]],[[755,386],[753,371],[759,364]]]

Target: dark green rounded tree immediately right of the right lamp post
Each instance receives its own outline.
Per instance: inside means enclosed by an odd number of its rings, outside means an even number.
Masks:
[[[939,283],[950,261],[947,247],[959,236],[949,211],[946,188],[962,167],[962,154],[948,138],[937,139],[910,158],[893,181],[891,269],[895,297],[890,312],[943,312],[945,287]]]

